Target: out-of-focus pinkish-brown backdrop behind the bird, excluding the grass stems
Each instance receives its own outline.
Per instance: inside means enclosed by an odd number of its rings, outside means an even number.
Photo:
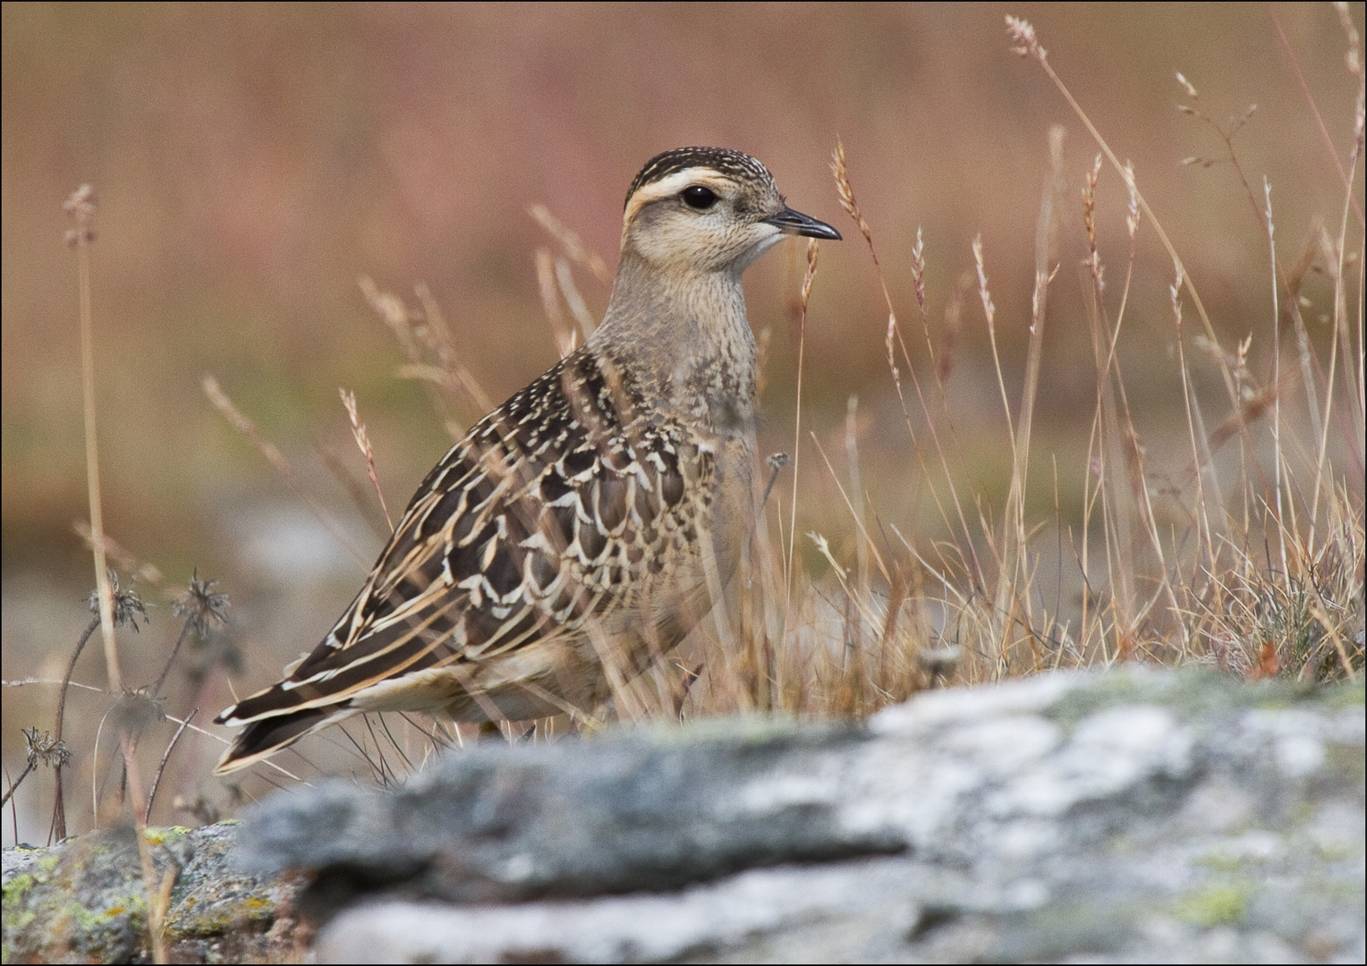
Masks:
[[[4,678],[60,678],[90,619],[90,555],[72,529],[89,510],[75,258],[62,212],[85,182],[100,205],[92,257],[107,527],[164,577],[137,583],[153,605],[150,626],[120,635],[135,682],[156,678],[179,627],[171,601],[195,567],[232,600],[239,693],[312,648],[364,575],[205,399],[205,374],[370,556],[380,537],[349,495],[347,475],[364,482],[365,466],[338,388],[355,392],[395,512],[450,434],[424,387],[396,376],[406,359],[358,277],[413,305],[414,284],[425,283],[461,362],[503,399],[558,357],[534,261],[537,247],[558,249],[529,205],[544,204],[611,269],[632,176],[679,145],[757,156],[794,208],[845,234],[822,247],[804,422],[843,460],[857,394],[863,486],[902,533],[931,538],[938,516],[924,488],[917,496],[908,482],[913,451],[884,357],[886,309],[837,201],[831,148],[839,135],[919,368],[925,336],[910,253],[923,232],[931,337],[953,347],[957,458],[968,492],[999,508],[1007,437],[982,305],[976,287],[962,298],[961,279],[980,234],[1014,403],[1048,130],[1066,127],[1069,208],[1059,216],[1029,506],[1053,515],[1057,499],[1061,519],[1073,519],[1081,481],[1061,477],[1055,497],[1048,466],[1051,456],[1085,463],[1094,413],[1079,262],[1080,187],[1096,148],[1039,66],[1010,53],[1003,14],[1035,23],[1050,63],[1133,160],[1222,340],[1269,331],[1266,238],[1229,165],[1180,164],[1221,157],[1223,145],[1174,109],[1189,102],[1174,71],[1222,124],[1258,105],[1234,143],[1259,195],[1262,178],[1271,183],[1278,245],[1293,261],[1321,221],[1337,235],[1344,187],[1278,23],[1346,157],[1356,83],[1330,4],[4,4]],[[1357,30],[1362,15],[1352,4]],[[1125,191],[1110,169],[1098,234],[1118,290],[1129,242]],[[768,332],[766,452],[791,450],[801,271],[793,245],[746,279],[752,324]],[[1184,459],[1166,441],[1185,441],[1170,365],[1172,273],[1143,227],[1118,353],[1158,471]],[[576,280],[600,313],[607,287],[589,272]],[[1311,340],[1327,354],[1329,329],[1316,320],[1331,310],[1331,286],[1312,277],[1303,294]],[[956,298],[957,327],[946,324]],[[1356,288],[1348,298],[1353,305]],[[1267,336],[1255,337],[1249,358],[1266,378]],[[1214,366],[1197,362],[1193,376],[1199,391],[1222,398]],[[458,409],[466,425],[478,415]],[[815,452],[804,451],[802,480],[811,499],[798,526],[850,533]],[[77,680],[104,682],[96,652]],[[172,682],[174,713],[201,700],[202,723],[230,700],[221,675],[195,687]],[[51,727],[53,690],[4,695],[11,776],[23,767],[19,728]],[[202,753],[176,794],[194,791],[213,756]],[[89,801],[89,786],[83,794]],[[41,839],[45,828],[42,812],[18,833]],[[8,823],[4,835],[14,838]]]

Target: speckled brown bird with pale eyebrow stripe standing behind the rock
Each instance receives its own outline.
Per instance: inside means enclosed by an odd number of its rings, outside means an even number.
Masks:
[[[428,473],[323,641],[215,719],[241,728],[215,773],[362,712],[585,720],[675,646],[756,518],[741,275],[789,236],[841,238],[749,154],[647,161],[601,324]]]

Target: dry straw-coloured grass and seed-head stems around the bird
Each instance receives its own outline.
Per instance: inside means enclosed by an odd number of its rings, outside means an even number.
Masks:
[[[876,223],[878,213],[865,215],[854,191],[856,182],[872,180],[876,172],[860,169],[839,143],[833,161],[837,194],[876,268],[887,310],[887,373],[913,444],[906,465],[891,473],[913,503],[932,507],[939,521],[936,532],[923,536],[879,508],[867,485],[868,456],[867,448],[861,456],[863,414],[856,396],[849,399],[842,430],[822,433],[804,426],[809,295],[813,286],[822,284],[813,242],[796,312],[791,452],[775,454],[767,463],[763,519],[741,575],[727,593],[718,589],[723,600],[715,618],[677,652],[662,654],[645,675],[632,679],[621,670],[612,642],[599,642],[615,690],[610,709],[591,709],[592,716],[577,721],[563,716],[502,726],[509,741],[554,738],[577,727],[596,727],[610,715],[626,721],[678,721],[753,710],[857,717],[928,687],[1117,661],[1211,664],[1243,678],[1277,675],[1305,682],[1356,679],[1363,672],[1367,537],[1362,454],[1367,394],[1362,215],[1352,189],[1363,146],[1363,70],[1356,34],[1346,31],[1349,77],[1357,85],[1359,100],[1353,149],[1342,172],[1341,209],[1336,212],[1336,227],[1319,232],[1296,262],[1288,262],[1277,246],[1274,195],[1252,186],[1239,164],[1236,134],[1243,122],[1228,128],[1208,122],[1196,89],[1178,75],[1188,113],[1214,128],[1219,160],[1248,194],[1264,236],[1270,298],[1266,316],[1251,322],[1248,337],[1270,343],[1273,351],[1270,365],[1259,369],[1249,362],[1248,342],[1222,344],[1159,213],[1144,198],[1143,179],[1107,146],[1103,133],[1054,72],[1033,30],[1020,20],[1012,20],[1009,29],[1017,51],[1057,85],[1099,152],[1081,175],[1079,193],[1069,187],[1062,133],[1050,135],[1050,168],[1036,223],[1032,314],[1024,322],[1029,336],[1018,389],[1005,374],[1013,361],[1003,362],[1010,350],[998,342],[991,257],[982,240],[962,239],[973,254],[966,284],[953,283],[938,291],[930,277],[956,276],[928,272],[927,264],[934,265],[938,257],[949,262],[950,256],[925,250],[917,234],[909,254],[916,296],[912,328],[919,333],[910,335],[879,262],[878,232],[869,221],[872,217]],[[1106,210],[1098,201],[1098,186],[1110,178],[1125,189],[1128,201],[1118,210]],[[577,284],[604,286],[607,269],[547,208],[537,206],[533,213],[548,232],[547,247],[536,254],[547,322],[556,346],[569,353],[592,328]],[[1098,225],[1109,219],[1125,224],[1128,247],[1118,256],[1103,251],[1098,242]],[[1181,387],[1184,414],[1184,424],[1167,428],[1158,444],[1146,443],[1140,432],[1143,419],[1128,392],[1135,383],[1126,383],[1117,351],[1124,328],[1135,324],[1128,313],[1136,243],[1146,232],[1158,236],[1173,265],[1166,320],[1173,353],[1166,365]],[[1058,272],[1074,271],[1061,262],[1065,257],[1059,254],[1070,245],[1087,253],[1080,277],[1095,394],[1091,418],[1083,424],[1084,439],[1042,443],[1035,413],[1042,361],[1051,351],[1047,309]],[[82,317],[87,318],[89,286],[86,269],[82,272]],[[1322,340],[1329,347],[1327,358],[1316,351],[1300,316],[1300,288],[1314,273],[1333,286],[1331,336]],[[1115,284],[1115,279],[1121,281]],[[361,287],[405,355],[398,376],[421,383],[436,418],[458,436],[491,407],[492,399],[462,359],[436,301],[421,286],[411,302],[381,292],[369,280],[362,280]],[[600,294],[585,291],[591,296]],[[1195,331],[1188,318],[1192,313]],[[999,404],[1003,418],[998,455],[1009,485],[999,510],[977,486],[979,470],[966,463],[956,426],[956,346],[961,329],[971,324],[986,327],[994,404]],[[1286,359],[1284,351],[1289,353]],[[1146,369],[1143,378],[1156,377]],[[1211,381],[1215,394],[1199,391],[1200,384]],[[205,392],[309,511],[349,545],[328,510],[309,495],[280,450],[224,388],[211,377]],[[383,474],[384,462],[377,459],[362,421],[364,399],[358,404],[355,396],[343,394],[343,403],[365,475],[379,496],[377,474]],[[94,467],[93,413],[90,448]],[[387,533],[383,496],[372,500],[342,460],[332,466],[350,481],[347,492],[362,515],[379,533]],[[790,478],[782,480],[783,473]],[[1081,491],[1079,521],[1066,518],[1061,488]],[[265,786],[288,786],[321,771],[338,771],[338,749],[346,756],[340,758],[342,771],[349,758],[358,779],[391,784],[421,769],[436,751],[477,736],[472,728],[373,715],[279,756],[279,761],[258,767],[242,783],[224,786],[227,801],[194,794],[157,798],[164,780],[193,790],[206,771],[201,747],[223,739],[197,727],[193,719],[215,685],[231,686],[227,675],[241,664],[242,654],[227,598],[198,575],[182,594],[165,586],[160,571],[139,564],[104,536],[96,493],[97,481],[92,478],[94,525],[87,540],[100,588],[97,619],[86,638],[103,629],[111,683],[108,689],[81,685],[71,680],[71,671],[67,682],[36,676],[5,682],[45,689],[44,695],[51,693],[49,706],[64,702],[68,686],[96,694],[103,702],[98,713],[66,732],[59,712],[56,738],[33,731],[29,768],[19,782],[44,765],[60,773],[64,742],[89,762],[81,773],[90,782],[96,824],[119,821],[128,809],[137,821],[185,821],[186,816],[206,821],[250,801]],[[833,501],[841,508],[839,516],[828,512]],[[1040,512],[1042,506],[1048,510]],[[364,563],[360,551],[351,552]],[[141,603],[130,603],[127,589],[107,585],[101,562],[105,555],[161,597],[176,600],[175,615],[183,619],[175,644],[168,641],[170,657],[160,678],[141,691],[130,691],[120,682],[113,634],[120,622],[137,627]],[[1050,560],[1053,568],[1047,567]],[[71,657],[72,668],[86,638]],[[182,654],[186,641],[190,646]],[[185,705],[193,710],[179,717],[165,713],[160,697],[176,661],[193,685],[193,700]],[[48,705],[46,697],[42,701]],[[122,768],[109,767],[111,734],[123,753]],[[139,773],[154,777],[144,786]],[[37,783],[19,790],[19,795],[48,794],[51,786]],[[18,838],[18,810],[12,808]],[[59,795],[53,832],[62,831],[60,809]],[[148,891],[164,892],[150,881]]]

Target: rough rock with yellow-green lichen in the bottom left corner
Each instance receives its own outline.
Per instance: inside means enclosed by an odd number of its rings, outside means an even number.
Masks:
[[[4,962],[152,962],[142,864],[131,828],[52,848],[4,851]],[[294,879],[245,872],[232,861],[236,823],[149,828],[164,922],[176,962],[242,962],[294,946]]]

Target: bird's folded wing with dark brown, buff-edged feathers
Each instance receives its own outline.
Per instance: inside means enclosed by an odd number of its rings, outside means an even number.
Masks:
[[[630,605],[696,541],[711,467],[705,445],[644,411],[622,370],[582,347],[447,452],[332,631],[216,720],[312,720]]]

